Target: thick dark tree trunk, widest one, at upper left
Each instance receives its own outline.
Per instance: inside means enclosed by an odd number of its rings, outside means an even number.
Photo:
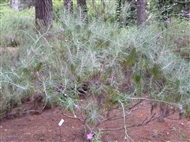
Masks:
[[[52,27],[52,0],[36,0],[35,22],[37,30],[47,30]]]

